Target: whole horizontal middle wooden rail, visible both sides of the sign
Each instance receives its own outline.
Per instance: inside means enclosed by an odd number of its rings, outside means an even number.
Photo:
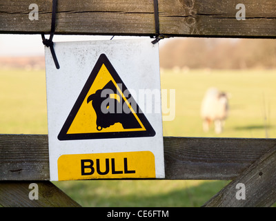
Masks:
[[[164,137],[168,180],[233,180],[275,139]],[[48,135],[0,135],[0,180],[49,180]]]

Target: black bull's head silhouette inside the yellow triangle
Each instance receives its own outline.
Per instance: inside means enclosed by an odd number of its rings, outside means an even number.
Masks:
[[[127,100],[131,104],[132,109],[136,111],[138,106],[127,89],[124,90],[124,95],[128,95]],[[91,101],[97,115],[96,124],[98,131],[118,122],[121,123],[124,129],[141,128],[135,115],[130,111],[130,107],[121,97],[112,81],[109,81],[102,89],[97,90],[95,94],[90,95],[87,103]],[[134,104],[135,106],[133,106]]]

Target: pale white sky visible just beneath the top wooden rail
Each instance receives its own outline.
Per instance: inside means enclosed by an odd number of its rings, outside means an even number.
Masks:
[[[49,35],[46,35],[48,38]],[[90,35],[54,35],[53,41],[90,41],[109,40],[112,36],[90,36]],[[126,39],[130,37],[115,36],[113,39]],[[135,37],[132,37],[135,38]],[[139,38],[139,37],[136,37]],[[149,38],[149,37],[148,37]],[[159,45],[164,44],[159,41]],[[0,34],[0,57],[10,56],[43,56],[44,46],[41,35],[5,35]]]

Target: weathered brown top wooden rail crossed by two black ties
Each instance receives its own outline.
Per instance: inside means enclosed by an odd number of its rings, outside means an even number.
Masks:
[[[39,20],[30,21],[31,0],[0,0],[0,33],[50,32],[50,0],[37,0]],[[246,20],[236,19],[238,0],[159,0],[160,32],[172,36],[276,37],[276,2],[248,0]],[[154,35],[153,1],[59,0],[57,34]]]

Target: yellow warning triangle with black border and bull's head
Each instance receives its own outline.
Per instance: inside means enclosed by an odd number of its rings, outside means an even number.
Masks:
[[[101,54],[63,124],[58,139],[152,136],[155,136],[155,130],[106,55]]]

